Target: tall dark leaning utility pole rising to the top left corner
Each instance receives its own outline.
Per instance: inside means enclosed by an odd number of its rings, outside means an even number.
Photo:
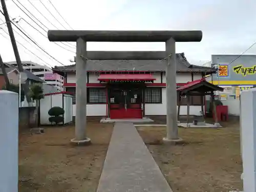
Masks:
[[[17,44],[16,44],[15,37],[14,37],[14,34],[13,34],[12,24],[11,24],[10,17],[9,17],[9,14],[8,14],[8,11],[7,11],[5,0],[1,0],[1,4],[2,4],[2,8],[3,8],[7,28],[8,28],[8,31],[9,31],[9,35],[10,35],[10,38],[11,38],[12,48],[13,48],[13,52],[14,52],[14,55],[15,55],[15,58],[16,58],[18,71],[20,73],[20,72],[23,72],[22,61],[20,60],[20,57],[19,57],[18,48],[17,48]],[[31,106],[32,104],[31,104],[31,97],[29,96],[29,85],[27,83],[25,83],[25,84],[22,84],[22,87],[24,89],[24,93],[26,95],[26,99],[28,101],[28,104],[29,104],[29,106]]]

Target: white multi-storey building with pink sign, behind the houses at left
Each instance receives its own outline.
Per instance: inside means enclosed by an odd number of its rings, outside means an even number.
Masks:
[[[7,62],[9,65],[17,67],[16,61]],[[49,86],[55,86],[58,91],[63,91],[63,77],[59,74],[53,74],[51,68],[39,65],[32,61],[22,61],[23,69],[30,71],[40,79],[44,80]]]

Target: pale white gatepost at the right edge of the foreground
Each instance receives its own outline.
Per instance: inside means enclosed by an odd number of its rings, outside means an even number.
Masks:
[[[256,89],[241,96],[243,187],[244,192],[256,192]]]

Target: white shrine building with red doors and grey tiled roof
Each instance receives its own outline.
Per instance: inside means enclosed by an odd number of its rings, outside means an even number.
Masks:
[[[142,118],[166,115],[165,52],[87,52],[87,116]],[[184,53],[176,54],[177,87],[216,70],[191,65]],[[76,66],[53,68],[65,77],[65,91],[76,93]],[[174,90],[176,92],[176,90]],[[180,114],[186,114],[186,101]],[[200,97],[190,102],[190,114],[201,111]],[[73,100],[73,115],[76,101]]]

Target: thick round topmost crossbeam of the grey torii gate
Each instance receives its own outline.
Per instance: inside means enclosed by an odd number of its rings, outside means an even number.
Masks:
[[[92,30],[49,30],[50,41],[76,41],[79,37],[85,41],[98,42],[165,42],[174,38],[176,42],[199,42],[202,31],[92,31]]]

